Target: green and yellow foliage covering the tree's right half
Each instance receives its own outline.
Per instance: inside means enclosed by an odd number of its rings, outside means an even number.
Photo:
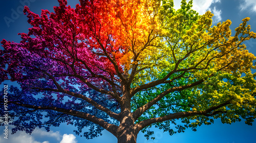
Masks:
[[[243,19],[232,37],[230,20],[212,27],[213,14],[207,11],[198,15],[191,9],[191,1],[182,1],[179,10],[173,7],[173,1],[162,1],[159,9],[159,21],[162,22],[159,43],[152,46],[154,50],[148,50],[147,56],[138,62],[139,72],[132,87],[156,81],[159,83],[137,92],[132,98],[132,110],[147,105],[172,88],[200,80],[204,82],[165,94],[136,123],[190,111],[198,112],[198,115],[182,117],[183,124],[176,125],[176,130],[165,128],[163,123],[154,125],[171,135],[183,132],[185,128],[196,131],[197,126],[210,125],[216,118],[221,118],[227,124],[244,118],[246,124],[250,125],[255,118],[256,107],[253,96],[255,74],[251,74],[251,69],[255,68],[252,65],[255,56],[248,53],[242,44],[255,38],[255,33],[250,32],[250,26],[246,24],[249,18]],[[166,121],[165,124],[170,122]],[[151,134],[147,132],[147,135]]]

